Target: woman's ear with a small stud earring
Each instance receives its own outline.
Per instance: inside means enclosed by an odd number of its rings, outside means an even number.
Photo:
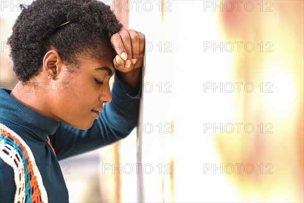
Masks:
[[[50,75],[56,78],[62,70],[63,62],[56,50],[48,51],[43,58],[43,73],[46,77]]]

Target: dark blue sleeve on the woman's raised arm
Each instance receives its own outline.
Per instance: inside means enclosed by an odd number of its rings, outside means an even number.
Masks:
[[[133,130],[138,119],[141,86],[133,89],[115,72],[111,95],[111,103],[104,104],[99,119],[90,129],[80,130],[60,122],[56,133],[50,136],[58,160],[121,140]]]

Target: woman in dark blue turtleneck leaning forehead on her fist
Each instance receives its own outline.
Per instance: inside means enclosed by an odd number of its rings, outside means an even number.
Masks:
[[[0,89],[0,201],[67,202],[58,160],[123,139],[137,122],[145,38],[96,0],[21,8],[8,40],[20,82]]]

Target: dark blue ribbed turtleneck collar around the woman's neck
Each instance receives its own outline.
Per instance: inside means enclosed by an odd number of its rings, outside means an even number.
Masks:
[[[20,101],[10,95],[11,92],[12,90],[0,88],[0,117],[27,128],[44,141],[48,141],[48,135],[55,133],[59,122],[20,103]]]

